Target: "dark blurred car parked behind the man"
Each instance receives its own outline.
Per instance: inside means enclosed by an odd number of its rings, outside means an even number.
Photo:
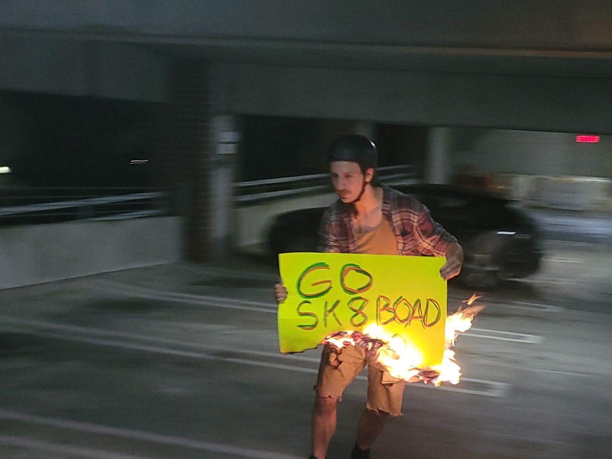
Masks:
[[[472,288],[533,274],[542,248],[534,220],[516,203],[499,196],[449,185],[398,185],[425,204],[431,217],[459,240],[465,261],[458,276]],[[313,252],[324,207],[278,215],[269,232],[272,253]]]

